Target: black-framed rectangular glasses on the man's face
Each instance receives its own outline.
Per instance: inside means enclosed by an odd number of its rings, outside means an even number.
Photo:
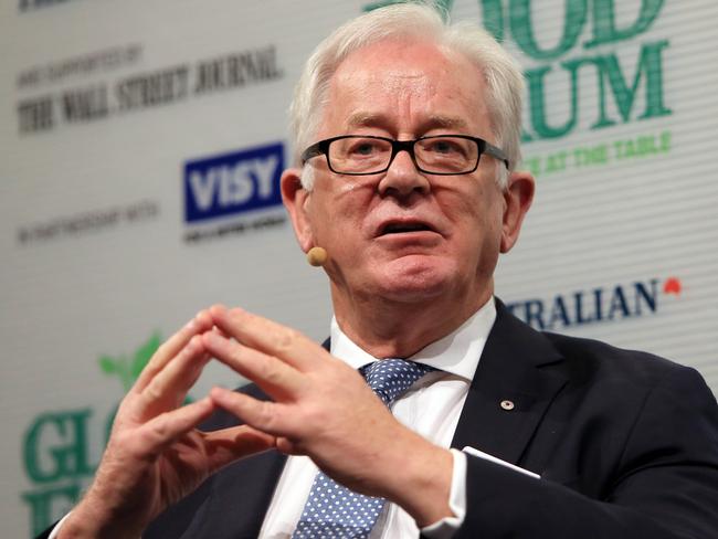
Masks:
[[[302,154],[302,161],[324,155],[329,170],[338,175],[378,175],[389,169],[400,151],[408,151],[416,169],[427,175],[467,175],[476,170],[482,154],[504,161],[508,168],[504,150],[468,135],[435,135],[415,140],[342,135],[313,144]]]

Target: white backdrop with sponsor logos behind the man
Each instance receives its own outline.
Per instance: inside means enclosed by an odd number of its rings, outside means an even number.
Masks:
[[[138,369],[198,309],[327,335],[326,279],[276,175],[303,61],[370,3],[0,8],[3,536],[71,506]],[[537,327],[673,358],[718,390],[718,4],[443,3],[500,34],[529,81],[538,195],[497,294]],[[218,382],[240,380],[211,366],[191,394]]]

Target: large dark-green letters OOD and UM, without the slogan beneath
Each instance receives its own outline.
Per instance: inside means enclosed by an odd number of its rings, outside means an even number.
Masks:
[[[521,52],[539,63],[538,67],[526,71],[530,106],[525,140],[564,137],[576,129],[579,114],[588,117],[590,129],[671,114],[663,98],[663,53],[668,41],[641,40],[657,19],[664,0],[641,0],[637,17],[623,24],[616,22],[615,3],[615,0],[568,0],[559,42],[553,46],[542,46],[537,39],[529,0],[509,2],[508,24],[504,22],[500,2],[483,1],[488,29],[501,39],[504,27],[508,25]],[[584,29],[589,34],[581,40]],[[638,60],[633,70],[622,59],[625,56],[623,51],[630,51],[625,46],[621,54],[615,50],[596,53],[602,45],[634,40],[638,41]],[[579,76],[585,72],[595,78]],[[549,81],[557,75],[569,83],[566,98],[570,103],[570,114],[563,121],[551,123],[546,97],[555,92]],[[598,93],[594,110],[581,106],[580,96],[590,93],[588,89],[581,92],[581,84],[594,84],[590,91]],[[643,99],[640,99],[641,95]],[[610,102],[616,109],[613,114],[609,108]]]

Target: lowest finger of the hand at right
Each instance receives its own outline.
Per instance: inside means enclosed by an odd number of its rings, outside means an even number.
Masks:
[[[292,437],[302,427],[286,415],[288,410],[282,403],[258,401],[224,388],[212,388],[210,398],[215,405],[236,415],[247,425],[274,436]]]

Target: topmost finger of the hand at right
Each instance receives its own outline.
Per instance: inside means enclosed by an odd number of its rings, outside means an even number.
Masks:
[[[326,353],[326,350],[296,329],[245,310],[213,306],[209,314],[220,329],[237,341],[275,356],[300,371],[309,370],[318,357]]]

